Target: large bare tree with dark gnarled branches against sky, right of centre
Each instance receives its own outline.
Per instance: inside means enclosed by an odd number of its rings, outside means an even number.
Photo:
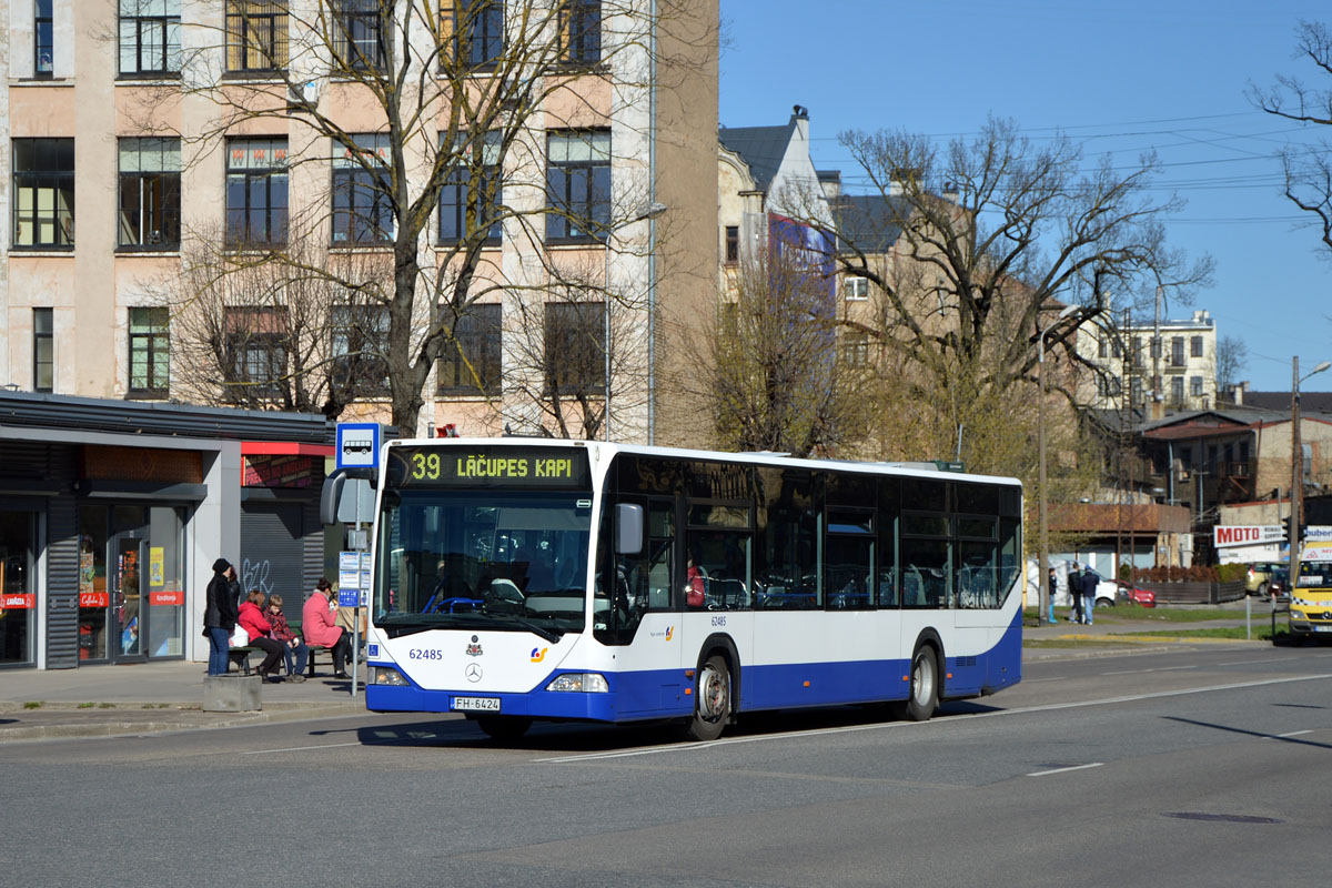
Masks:
[[[992,118],[943,150],[907,133],[842,141],[875,193],[866,220],[839,225],[838,264],[870,281],[876,313],[860,329],[930,397],[1030,393],[1039,330],[1064,304],[1082,308],[1054,324],[1047,347],[1095,371],[1074,349],[1082,324],[1158,286],[1187,301],[1209,282],[1209,257],[1188,264],[1166,244],[1160,220],[1181,202],[1152,197],[1151,156],[1127,172],[1108,157],[1086,168],[1067,138],[1038,146]]]

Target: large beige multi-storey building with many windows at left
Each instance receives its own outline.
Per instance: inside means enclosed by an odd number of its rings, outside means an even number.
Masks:
[[[352,355],[384,385],[342,418],[389,422],[392,361],[376,337],[386,308],[354,296],[340,306],[332,293],[300,339],[296,288],[269,281],[262,304],[248,302],[253,281],[228,277],[209,304],[196,282],[208,261],[230,273],[237,257],[296,253],[297,238],[312,276],[376,274],[396,237],[369,185],[376,164],[413,197],[452,152],[482,168],[473,184],[502,185],[470,197],[448,185],[426,205],[413,347],[456,317],[417,427],[402,431],[689,438],[677,434],[689,405],[671,399],[669,342],[714,296],[717,0],[398,0],[388,24],[380,0],[5,5],[0,385],[318,411],[318,386],[337,378],[326,367]],[[513,60],[518,48],[529,55]],[[438,61],[449,53],[472,63],[465,76]],[[417,99],[433,92],[416,134],[394,138],[364,75],[401,59],[404,83],[425,84]],[[458,107],[496,84],[514,96],[489,118],[507,126],[506,150],[489,130],[470,154],[444,145],[470,134]],[[458,91],[469,103],[452,101]],[[460,244],[478,225],[489,234],[477,261]],[[476,284],[450,305],[464,269]],[[220,314],[212,334],[188,312]],[[579,338],[591,345],[573,354]],[[570,375],[591,397],[570,398],[581,413],[557,421],[550,402]],[[305,401],[293,403],[298,385]]]

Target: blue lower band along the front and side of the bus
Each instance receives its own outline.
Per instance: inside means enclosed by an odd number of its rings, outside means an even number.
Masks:
[[[563,671],[551,672],[537,687],[543,688]],[[738,708],[757,711],[902,700],[910,688],[910,671],[908,659],[742,664]],[[947,656],[946,672],[951,678],[944,680],[943,691],[950,698],[992,694],[1016,684],[1022,679],[1020,611],[1014,615],[1014,622],[995,647],[971,656]],[[500,698],[500,712],[506,715],[593,722],[686,716],[694,710],[693,696],[685,694],[690,683],[685,678],[685,670],[611,672],[606,675],[606,682],[610,686],[607,694],[543,690],[494,694],[476,688],[429,691],[416,684],[370,684],[365,688],[365,702],[374,711],[448,712],[452,710],[452,698],[456,696]]]

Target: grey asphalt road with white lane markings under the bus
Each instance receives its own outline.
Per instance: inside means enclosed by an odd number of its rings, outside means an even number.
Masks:
[[[1324,885],[1332,648],[1046,660],[924,724],[288,722],[0,747],[0,884]]]

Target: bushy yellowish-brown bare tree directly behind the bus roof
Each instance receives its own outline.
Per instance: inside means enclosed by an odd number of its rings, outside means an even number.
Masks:
[[[798,457],[863,442],[870,342],[839,342],[832,281],[781,244],[742,261],[694,378],[722,447]]]

